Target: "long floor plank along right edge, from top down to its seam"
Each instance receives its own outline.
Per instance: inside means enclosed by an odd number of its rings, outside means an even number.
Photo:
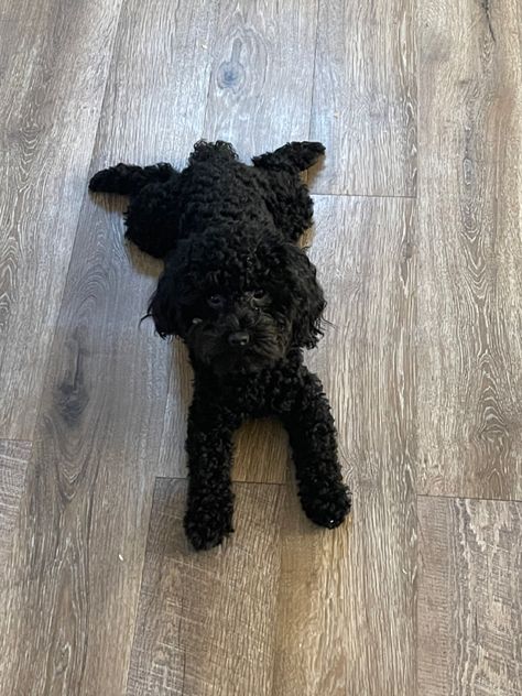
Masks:
[[[420,8],[418,490],[520,499],[522,6]]]

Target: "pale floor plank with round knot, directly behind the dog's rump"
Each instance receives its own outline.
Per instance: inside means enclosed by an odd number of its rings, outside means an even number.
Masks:
[[[318,0],[219,3],[205,137],[250,159],[307,140]]]

